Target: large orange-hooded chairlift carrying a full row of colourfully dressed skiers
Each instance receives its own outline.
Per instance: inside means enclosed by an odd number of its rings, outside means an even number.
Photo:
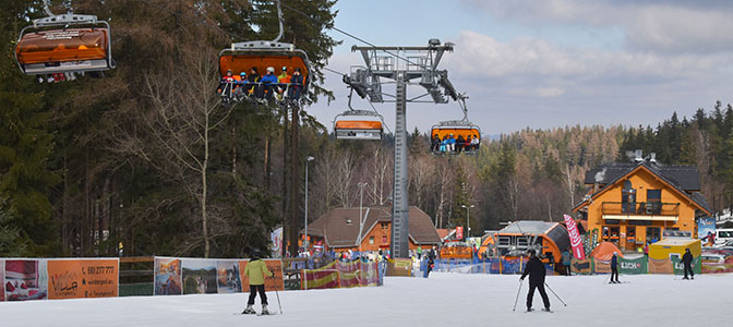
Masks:
[[[284,31],[283,11],[280,10],[280,1],[275,2],[280,28],[277,37],[272,41],[254,40],[231,44],[231,47],[219,52],[219,74],[224,81],[228,71],[231,71],[235,76],[240,76],[241,73],[250,75],[251,70],[254,68],[262,78],[266,74],[267,68],[275,69],[276,75],[281,72],[283,68],[286,68],[290,76],[292,76],[296,70],[299,70],[302,82],[278,83],[276,86],[264,85],[261,81],[253,83],[245,81],[228,82],[224,83],[224,89],[219,90],[223,97],[239,100],[244,97],[256,97],[257,93],[260,93],[260,97],[267,96],[269,98],[272,95],[267,95],[267,93],[272,92],[278,93],[278,97],[275,97],[276,99],[290,98],[297,100],[308,92],[309,75],[311,73],[311,63],[308,59],[308,53],[301,49],[297,49],[292,44],[279,41]],[[243,87],[242,89],[248,89],[248,92],[243,92],[240,96],[237,96],[237,93],[233,90],[240,85]]]

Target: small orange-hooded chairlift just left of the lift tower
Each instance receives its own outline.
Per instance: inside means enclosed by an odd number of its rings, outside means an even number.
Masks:
[[[349,93],[349,110],[334,118],[336,140],[382,140],[384,118],[375,111],[353,109],[352,95],[353,88]]]

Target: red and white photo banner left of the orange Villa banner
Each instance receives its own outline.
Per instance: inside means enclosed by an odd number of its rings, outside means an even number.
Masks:
[[[48,298],[45,259],[5,261],[5,300],[27,301]]]

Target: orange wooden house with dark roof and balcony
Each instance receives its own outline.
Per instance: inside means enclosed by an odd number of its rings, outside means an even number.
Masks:
[[[573,210],[599,242],[622,251],[640,251],[665,234],[696,238],[697,218],[711,215],[695,166],[605,164],[589,170],[585,184],[591,189]]]

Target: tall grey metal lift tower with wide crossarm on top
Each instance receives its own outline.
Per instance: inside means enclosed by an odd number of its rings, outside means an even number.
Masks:
[[[448,81],[446,70],[437,70],[445,51],[453,51],[454,45],[441,45],[438,39],[430,39],[426,47],[351,47],[352,52],[361,52],[364,66],[352,66],[344,76],[357,94],[369,97],[372,102],[395,102],[395,180],[392,192],[392,255],[408,257],[408,169],[407,169],[407,102],[447,104],[448,97],[458,99],[458,94]],[[413,82],[417,80],[417,82]],[[394,94],[383,92],[383,86],[394,84]],[[408,98],[409,85],[422,86],[425,93]]]

